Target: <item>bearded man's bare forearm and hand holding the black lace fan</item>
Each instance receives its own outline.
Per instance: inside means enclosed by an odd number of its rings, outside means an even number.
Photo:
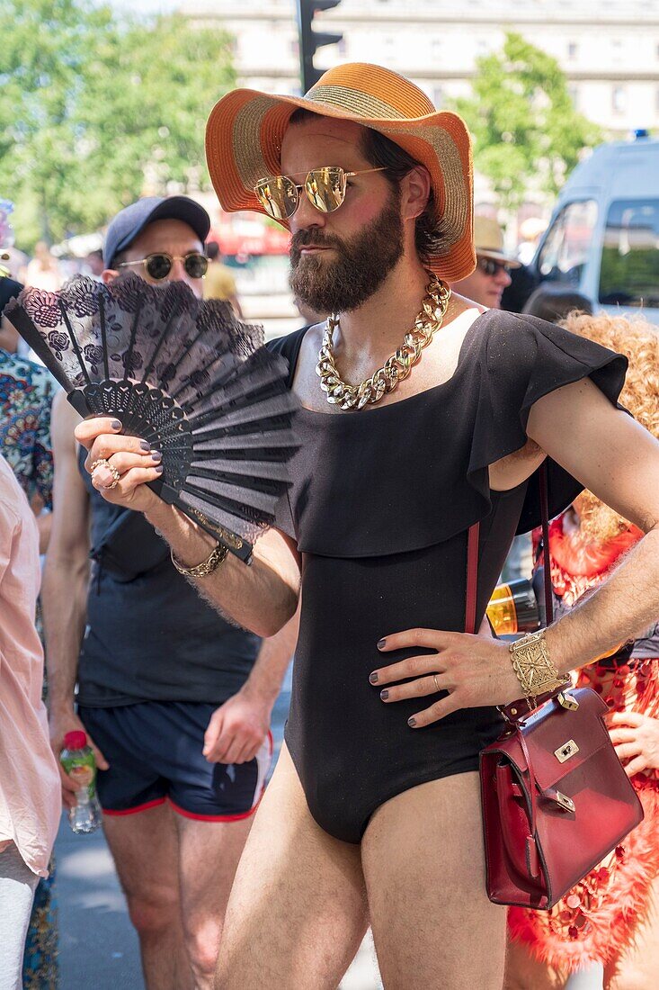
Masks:
[[[86,466],[112,457],[122,475],[116,488],[105,467],[94,472],[93,483],[104,498],[137,512],[171,546],[176,558],[187,566],[200,563],[216,545],[215,540],[186,515],[166,505],[144,482],[160,475],[150,451],[134,437],[120,435],[117,420],[85,420],[75,430],[76,439],[88,451]],[[200,593],[231,620],[257,636],[270,637],[293,617],[298,604],[300,564],[297,547],[278,530],[268,530],[254,546],[251,562],[245,566],[230,553],[222,565],[195,582]]]

